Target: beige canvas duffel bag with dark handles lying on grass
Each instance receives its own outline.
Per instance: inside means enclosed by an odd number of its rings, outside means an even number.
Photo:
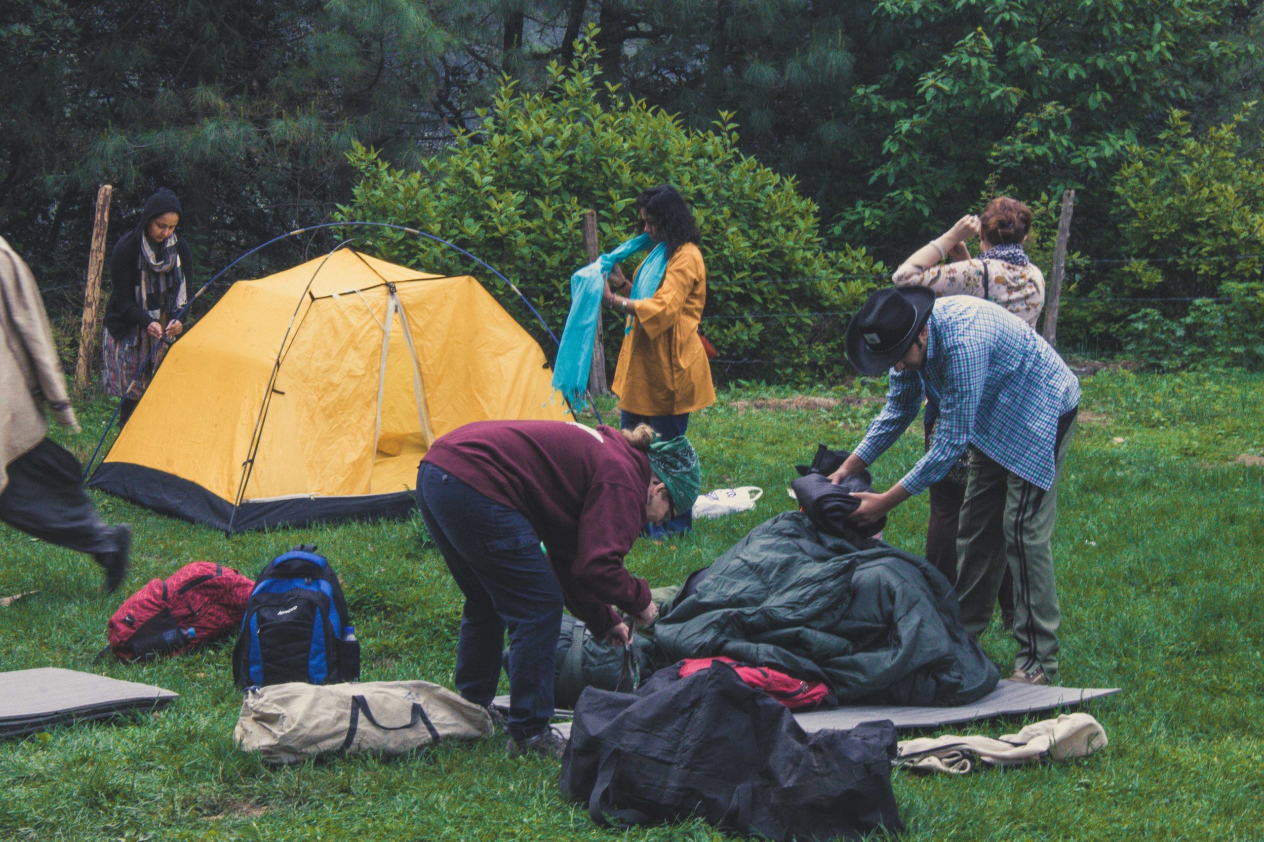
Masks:
[[[430,682],[291,682],[250,688],[233,738],[264,762],[289,764],[330,752],[399,755],[490,735],[483,707]]]

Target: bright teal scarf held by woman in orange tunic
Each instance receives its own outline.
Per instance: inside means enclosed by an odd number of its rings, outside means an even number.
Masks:
[[[571,412],[584,408],[588,394],[588,374],[593,365],[593,341],[597,336],[597,314],[602,308],[602,290],[605,276],[627,258],[650,246],[650,235],[632,237],[614,251],[603,254],[570,276],[570,314],[561,332],[557,362],[554,365],[552,386],[562,394]],[[659,292],[662,275],[667,270],[667,244],[660,242],[641,264],[632,283],[633,300],[651,298]],[[624,333],[632,329],[628,321]]]

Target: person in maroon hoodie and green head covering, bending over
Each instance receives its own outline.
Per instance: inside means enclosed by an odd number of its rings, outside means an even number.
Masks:
[[[689,511],[698,453],[641,424],[595,429],[568,422],[475,422],[440,437],[417,472],[417,504],[465,595],[456,689],[489,706],[509,630],[506,751],[560,757],[554,650],[565,605],[598,639],[626,645],[627,624],[657,608],[623,557],[647,523]],[[540,543],[547,548],[547,555]]]

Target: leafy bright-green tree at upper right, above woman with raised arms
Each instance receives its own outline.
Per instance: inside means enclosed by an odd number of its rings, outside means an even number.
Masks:
[[[863,241],[920,220],[943,225],[988,178],[1020,197],[1082,192],[1081,230],[1124,151],[1160,129],[1153,115],[1191,107],[1248,57],[1224,40],[1236,0],[885,0],[900,32],[885,72],[851,98],[884,126],[865,153],[867,184],[838,234]],[[1095,244],[1096,245],[1096,244]]]

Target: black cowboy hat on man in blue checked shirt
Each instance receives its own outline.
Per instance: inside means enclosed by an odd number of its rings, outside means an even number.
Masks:
[[[887,287],[868,297],[847,324],[847,359],[877,376],[900,361],[930,318],[935,294],[925,287]]]

